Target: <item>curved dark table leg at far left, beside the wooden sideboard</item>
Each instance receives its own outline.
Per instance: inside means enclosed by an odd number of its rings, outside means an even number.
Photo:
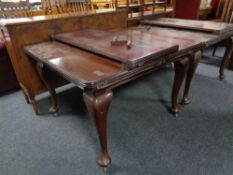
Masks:
[[[57,107],[57,95],[56,95],[55,88],[51,85],[51,83],[49,83],[49,81],[46,79],[46,76],[44,76],[43,74],[44,64],[37,62],[36,69],[40,75],[41,80],[44,82],[51,96],[49,112],[56,114],[58,111],[58,107]]]

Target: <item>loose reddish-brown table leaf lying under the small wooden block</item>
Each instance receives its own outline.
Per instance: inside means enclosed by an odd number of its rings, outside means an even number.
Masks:
[[[126,44],[111,45],[114,37],[130,40],[132,42],[130,48]],[[174,42],[169,42],[167,37],[127,29],[108,31],[87,29],[57,34],[53,38],[63,43],[119,61],[125,64],[128,69],[140,66],[144,62],[166,56],[178,50],[178,45]]]

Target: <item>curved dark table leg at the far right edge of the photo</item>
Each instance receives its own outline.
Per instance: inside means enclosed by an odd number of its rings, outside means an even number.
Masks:
[[[226,51],[224,53],[224,56],[223,56],[223,59],[222,59],[221,65],[220,65],[220,69],[219,69],[219,78],[220,78],[220,80],[224,79],[224,68],[225,68],[227,60],[231,56],[231,50],[232,50],[232,40],[231,40],[231,38],[227,39],[224,43],[225,43],[224,45],[226,46]]]

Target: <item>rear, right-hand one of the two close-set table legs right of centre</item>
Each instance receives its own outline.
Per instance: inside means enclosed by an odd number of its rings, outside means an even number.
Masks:
[[[197,65],[200,62],[201,56],[202,56],[202,52],[198,51],[194,55],[190,55],[189,57],[189,68],[188,68],[186,82],[185,82],[184,96],[181,101],[181,104],[183,105],[187,105],[190,103],[190,100],[188,98],[190,85],[193,79],[193,75],[197,69]]]

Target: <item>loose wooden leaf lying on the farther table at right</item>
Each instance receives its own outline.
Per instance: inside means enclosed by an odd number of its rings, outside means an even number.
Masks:
[[[214,22],[214,21],[187,20],[187,19],[177,19],[177,18],[158,18],[155,20],[143,20],[141,21],[141,24],[189,29],[189,30],[196,30],[201,32],[210,32],[217,35],[222,35],[227,32],[233,33],[233,24]]]

